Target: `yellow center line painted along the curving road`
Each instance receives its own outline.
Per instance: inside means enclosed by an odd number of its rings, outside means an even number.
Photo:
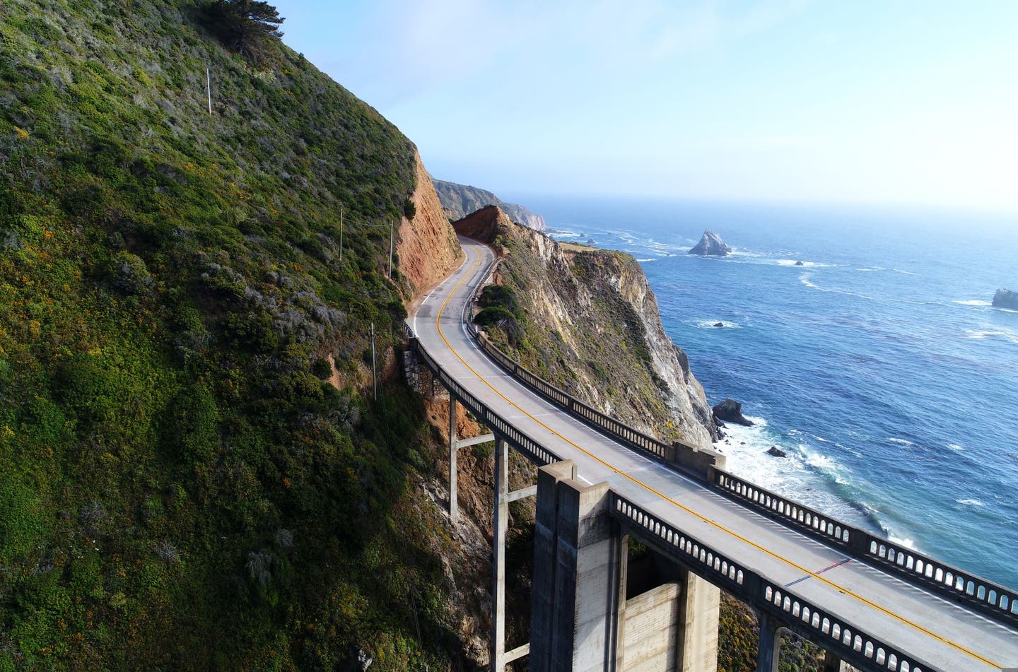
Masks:
[[[477,267],[480,265],[480,259],[482,259],[482,257],[483,257],[483,255],[480,255],[480,256],[477,257],[477,261],[475,261],[473,263],[473,266],[470,268],[470,270],[467,271],[466,275],[464,275],[463,278],[458,283],[456,283],[456,286],[452,288],[452,291],[449,292],[449,296],[446,297],[445,301],[442,303],[442,307],[439,309],[438,316],[436,316],[436,318],[435,318],[435,328],[438,330],[439,337],[442,338],[442,342],[445,343],[445,345],[446,345],[447,348],[449,348],[449,351],[452,352],[454,355],[456,355],[456,358],[459,359],[460,363],[462,363],[464,367],[466,367],[470,371],[471,374],[473,374],[474,376],[476,376],[477,380],[479,380],[482,383],[484,383],[485,385],[487,385],[492,390],[492,392],[494,392],[495,394],[497,394],[500,397],[502,397],[502,399],[504,399],[507,403],[509,403],[511,406],[513,406],[514,408],[516,408],[516,410],[520,411],[521,413],[523,413],[524,415],[526,415],[527,417],[529,417],[531,421],[533,421],[534,423],[536,423],[538,425],[540,425],[541,427],[543,427],[547,431],[551,432],[553,435],[555,435],[556,437],[558,437],[562,441],[565,441],[570,446],[572,446],[576,450],[580,451],[581,453],[583,453],[587,457],[590,457],[591,459],[597,460],[598,462],[600,462],[604,466],[608,467],[609,469],[611,469],[615,473],[619,474],[620,477],[626,479],[627,481],[632,482],[634,485],[636,485],[636,486],[638,486],[638,487],[646,490],[647,492],[653,493],[654,495],[660,497],[661,499],[665,500],[666,502],[669,502],[669,503],[677,506],[678,508],[682,509],[686,513],[688,513],[688,514],[690,514],[690,515],[692,515],[692,516],[694,516],[696,518],[699,518],[700,520],[702,520],[705,523],[708,523],[709,525],[711,525],[713,527],[716,527],[717,529],[719,529],[719,530],[721,530],[721,531],[723,531],[723,533],[725,533],[727,535],[730,535],[730,536],[734,537],[735,539],[739,540],[740,542],[742,542],[744,544],[747,544],[748,546],[751,546],[752,548],[756,549],[757,551],[760,551],[761,553],[765,553],[765,554],[771,556],[772,558],[775,558],[776,560],[779,560],[780,562],[783,562],[783,563],[789,565],[790,567],[793,567],[793,568],[797,569],[798,571],[801,571],[804,574],[808,574],[809,576],[815,578],[816,580],[818,580],[818,581],[821,581],[823,583],[826,583],[827,585],[835,589],[836,591],[839,591],[839,592],[841,592],[841,593],[843,593],[845,595],[848,595],[848,596],[850,596],[850,597],[858,600],[859,602],[861,602],[864,605],[872,607],[873,609],[880,611],[883,614],[886,614],[887,616],[890,616],[890,617],[894,618],[895,620],[898,620],[898,621],[900,621],[900,622],[902,622],[902,623],[904,623],[906,625],[911,626],[912,628],[918,630],[919,632],[922,632],[923,634],[925,634],[927,636],[934,637],[935,639],[937,639],[939,641],[943,641],[944,643],[948,645],[949,647],[951,647],[953,649],[956,649],[957,651],[960,651],[961,653],[963,653],[963,654],[965,654],[967,656],[970,656],[971,658],[974,658],[977,661],[980,661],[980,662],[982,662],[982,663],[984,663],[986,665],[989,665],[991,667],[996,667],[996,668],[1003,667],[1001,664],[995,663],[992,660],[989,660],[987,658],[984,658],[983,656],[980,656],[979,654],[975,653],[974,651],[971,651],[970,649],[967,649],[967,648],[965,648],[965,647],[963,647],[963,646],[961,646],[961,645],[959,645],[959,643],[957,643],[955,641],[952,641],[951,639],[948,639],[948,638],[946,638],[946,637],[944,637],[944,636],[942,636],[942,635],[934,632],[932,630],[929,630],[928,628],[925,628],[922,625],[919,625],[918,623],[910,621],[906,617],[901,616],[900,614],[897,614],[897,613],[891,611],[890,609],[887,609],[886,607],[883,607],[883,606],[876,604],[875,602],[873,602],[873,601],[871,601],[871,600],[869,600],[867,598],[862,597],[861,595],[857,595],[857,594],[853,593],[852,591],[848,590],[847,587],[845,587],[843,585],[840,585],[840,584],[838,584],[838,583],[836,583],[836,582],[834,582],[834,581],[826,578],[825,576],[822,576],[821,574],[817,574],[816,572],[811,571],[811,570],[803,567],[802,565],[799,565],[799,564],[793,562],[792,560],[789,560],[788,558],[785,558],[785,557],[783,557],[783,556],[775,553],[774,551],[771,551],[770,549],[767,549],[767,548],[760,546],[759,544],[753,542],[752,540],[746,539],[742,535],[740,535],[740,534],[738,534],[738,533],[736,533],[736,531],[734,531],[732,529],[729,529],[728,527],[725,527],[724,525],[722,525],[722,524],[720,524],[718,522],[715,522],[714,520],[711,520],[710,518],[708,518],[708,517],[705,517],[705,516],[697,513],[696,511],[690,509],[689,507],[687,507],[687,506],[685,506],[683,504],[680,504],[679,502],[677,502],[676,500],[672,499],[668,495],[666,495],[666,494],[664,494],[664,493],[656,490],[654,487],[648,486],[645,483],[643,483],[642,481],[639,481],[639,480],[637,480],[637,479],[629,475],[625,471],[623,471],[623,470],[619,469],[618,467],[616,467],[616,466],[614,466],[614,465],[606,462],[605,460],[603,460],[602,458],[598,457],[593,453],[591,453],[591,452],[587,451],[586,449],[581,448],[580,446],[576,445],[575,443],[573,443],[572,441],[570,441],[566,437],[562,436],[561,434],[559,434],[558,432],[556,432],[552,428],[550,428],[547,425],[545,425],[544,423],[542,423],[540,419],[538,419],[536,417],[534,417],[533,415],[531,415],[530,413],[528,413],[523,408],[520,408],[512,399],[510,399],[506,395],[502,394],[502,392],[500,392],[499,390],[495,389],[495,387],[491,383],[489,383],[483,376],[480,376],[480,374],[478,374],[473,369],[473,367],[471,367],[470,365],[468,365],[466,362],[466,360],[463,359],[462,356],[460,356],[459,352],[457,352],[456,349],[449,343],[449,341],[446,340],[445,334],[442,333],[442,324],[441,324],[442,314],[445,313],[446,306],[449,304],[449,301],[452,300],[452,297],[456,294],[457,291],[459,291],[459,288],[463,285],[463,283],[466,282],[466,280],[473,275],[474,271],[477,270]]]

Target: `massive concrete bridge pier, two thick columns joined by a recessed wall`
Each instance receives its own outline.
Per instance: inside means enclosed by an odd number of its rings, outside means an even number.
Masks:
[[[675,567],[627,601],[628,536],[607,495],[570,461],[538,471],[531,672],[714,672],[720,590]]]

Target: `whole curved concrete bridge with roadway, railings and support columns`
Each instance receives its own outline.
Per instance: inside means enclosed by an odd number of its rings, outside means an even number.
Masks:
[[[492,431],[457,440],[450,421],[453,519],[457,450],[496,445],[493,670],[528,656],[534,671],[714,671],[720,589],[757,615],[758,672],[777,670],[783,629],[823,647],[829,670],[1018,668],[1018,592],[734,477],[724,455],[657,441],[517,366],[466,319],[494,258],[461,242],[466,261],[407,332],[450,410]],[[540,467],[534,486],[509,492],[510,449]],[[507,652],[508,505],[524,497],[536,497],[530,641]],[[628,566],[630,540],[653,567]]]

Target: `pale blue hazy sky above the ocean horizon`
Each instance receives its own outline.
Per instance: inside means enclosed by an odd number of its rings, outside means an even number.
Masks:
[[[1018,212],[1018,1],[278,0],[433,176]]]

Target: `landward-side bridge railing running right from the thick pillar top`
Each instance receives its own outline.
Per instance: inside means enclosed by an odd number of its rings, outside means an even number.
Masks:
[[[623,530],[658,553],[680,562],[698,576],[766,611],[785,627],[838,655],[850,665],[895,672],[937,669],[787,587],[772,583],[752,569],[614,491],[609,491],[608,496],[609,510],[620,521]]]

